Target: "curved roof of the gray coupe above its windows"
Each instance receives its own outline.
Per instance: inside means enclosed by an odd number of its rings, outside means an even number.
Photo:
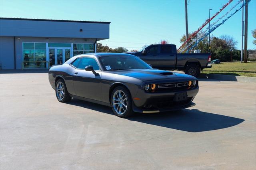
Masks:
[[[78,57],[94,57],[94,58],[100,58],[100,57],[105,57],[105,56],[133,56],[131,54],[126,54],[126,53],[86,53],[86,54],[80,54],[76,55],[72,58],[70,58],[68,61],[66,61],[64,64],[71,64],[75,59]]]

